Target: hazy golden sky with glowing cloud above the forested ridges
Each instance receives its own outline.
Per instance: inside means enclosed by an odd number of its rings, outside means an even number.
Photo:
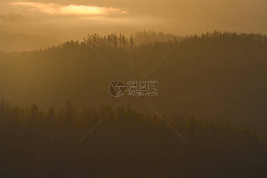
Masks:
[[[266,9],[266,0],[0,0],[0,14],[12,11],[38,21],[20,27],[1,23],[0,30],[64,39],[78,38],[74,29],[82,36],[149,29],[181,35],[207,30],[267,34]]]

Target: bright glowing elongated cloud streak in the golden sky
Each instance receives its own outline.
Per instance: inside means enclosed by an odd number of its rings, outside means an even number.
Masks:
[[[127,11],[122,11],[119,8],[112,7],[97,7],[70,4],[62,6],[54,3],[41,3],[41,2],[12,2],[12,5],[27,6],[31,11],[40,11],[48,14],[57,15],[106,15],[109,12],[119,12],[127,14]]]

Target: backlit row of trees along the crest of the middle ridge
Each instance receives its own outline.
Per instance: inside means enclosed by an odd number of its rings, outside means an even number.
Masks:
[[[267,43],[266,35],[261,33],[236,33],[236,32],[228,32],[228,31],[217,31],[209,32],[207,31],[206,34],[201,35],[190,35],[190,36],[179,36],[174,35],[172,33],[163,33],[158,32],[156,33],[153,30],[149,31],[137,31],[134,35],[130,35],[127,38],[124,34],[119,33],[117,35],[115,32],[100,36],[98,33],[89,34],[87,38],[80,43],[81,45],[90,44],[91,46],[97,47],[108,47],[111,49],[119,49],[122,48],[124,50],[133,51],[135,46],[144,46],[144,45],[151,45],[151,44],[169,44],[169,45],[176,45],[179,41],[184,40],[184,42],[199,42],[207,39],[227,39],[233,38],[236,40],[245,40],[245,41],[258,41]],[[66,42],[67,43],[67,42]],[[72,41],[74,43],[74,41]],[[76,41],[76,43],[79,43]]]

